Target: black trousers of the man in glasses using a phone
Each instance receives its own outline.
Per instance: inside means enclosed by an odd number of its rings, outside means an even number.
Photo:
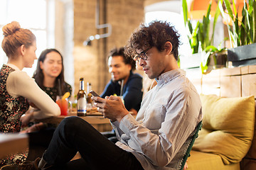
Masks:
[[[82,159],[69,162],[77,152]],[[117,147],[75,116],[58,125],[43,159],[55,169],[143,169],[132,153]]]

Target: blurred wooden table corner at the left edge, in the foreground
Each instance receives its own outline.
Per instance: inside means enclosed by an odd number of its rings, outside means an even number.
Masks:
[[[7,154],[23,152],[28,148],[28,135],[26,134],[0,134],[0,159]]]

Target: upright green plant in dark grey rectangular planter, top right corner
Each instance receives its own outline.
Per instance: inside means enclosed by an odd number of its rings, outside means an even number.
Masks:
[[[231,26],[227,24],[231,47],[228,49],[228,61],[238,67],[248,64],[256,64],[256,0],[249,0],[249,5],[244,1],[242,7],[242,20],[239,20],[233,0],[233,11],[230,1],[224,0],[228,16],[231,18]],[[220,6],[220,13],[228,21],[227,16]]]

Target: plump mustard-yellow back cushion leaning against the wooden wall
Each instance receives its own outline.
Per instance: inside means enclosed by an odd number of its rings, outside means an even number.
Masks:
[[[201,95],[203,128],[193,149],[220,155],[224,164],[240,162],[250,148],[255,126],[254,96]]]

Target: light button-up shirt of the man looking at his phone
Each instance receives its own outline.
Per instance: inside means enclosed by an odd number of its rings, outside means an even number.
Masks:
[[[181,69],[161,74],[146,94],[136,120],[130,114],[112,123],[120,142],[146,170],[178,169],[196,125],[201,100]]]

